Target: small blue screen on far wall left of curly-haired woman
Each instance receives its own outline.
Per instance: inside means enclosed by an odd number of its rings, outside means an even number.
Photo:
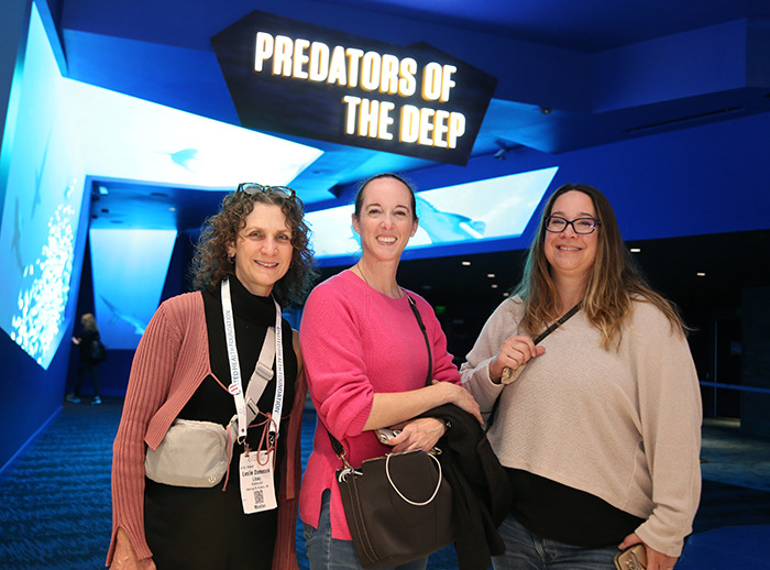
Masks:
[[[91,229],[89,235],[101,340],[108,349],[133,350],[161,300],[176,230]]]

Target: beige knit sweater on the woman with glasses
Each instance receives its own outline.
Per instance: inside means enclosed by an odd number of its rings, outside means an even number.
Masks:
[[[605,350],[579,311],[504,388],[488,363],[522,333],[521,307],[503,302],[460,370],[482,410],[501,394],[488,435],[501,462],[645,518],[639,538],[680,556],[701,494],[701,393],[686,340],[657,307],[635,302],[619,348]]]

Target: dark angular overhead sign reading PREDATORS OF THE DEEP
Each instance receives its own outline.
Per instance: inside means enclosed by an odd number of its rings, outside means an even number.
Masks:
[[[211,39],[249,129],[465,165],[497,78],[403,47],[254,11]]]

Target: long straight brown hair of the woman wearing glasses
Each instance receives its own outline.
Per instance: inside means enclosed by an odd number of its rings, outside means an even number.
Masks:
[[[524,329],[536,336],[559,315],[559,295],[546,259],[546,218],[551,215],[553,202],[568,191],[587,195],[594,204],[600,220],[596,261],[588,275],[582,310],[588,321],[602,331],[602,347],[619,347],[623,324],[632,311],[632,302],[641,300],[658,307],[671,324],[672,331],[684,333],[676,308],[659,293],[652,291],[636,260],[623,243],[615,212],[609,200],[593,186],[565,184],[550,197],[543,210],[538,232],[529,248],[521,282],[515,293],[524,302]]]

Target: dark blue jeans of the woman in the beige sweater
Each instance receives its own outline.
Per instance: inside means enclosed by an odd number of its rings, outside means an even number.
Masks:
[[[508,515],[498,533],[505,553],[492,558],[494,570],[615,570],[616,546],[585,548],[549,540]]]

